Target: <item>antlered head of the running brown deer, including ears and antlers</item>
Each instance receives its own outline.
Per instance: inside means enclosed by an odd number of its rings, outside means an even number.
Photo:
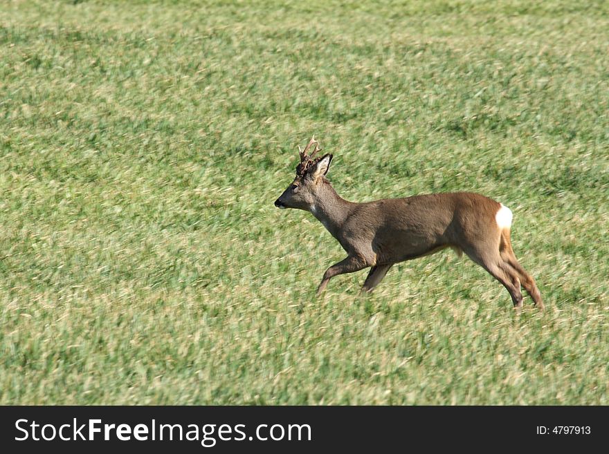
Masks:
[[[307,154],[313,145],[313,151]],[[315,140],[314,135],[304,150],[301,150],[300,146],[298,146],[300,163],[296,167],[296,178],[283,191],[282,195],[275,200],[275,207],[298,208],[305,211],[311,209],[317,199],[318,191],[324,183],[324,176],[332,160],[331,154],[315,158],[316,153],[320,150],[319,142]]]

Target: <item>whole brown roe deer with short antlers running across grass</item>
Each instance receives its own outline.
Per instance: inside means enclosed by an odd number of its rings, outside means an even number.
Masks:
[[[314,145],[313,151],[307,154]],[[347,252],[329,267],[318,287],[343,273],[370,267],[362,291],[378,285],[394,263],[435,254],[451,247],[487,270],[507,288],[515,308],[522,307],[520,285],[543,309],[534,279],[516,260],[509,231],[509,208],[476,193],[435,193],[355,203],[338,196],[325,175],[331,154],[320,151],[315,136],[300,150],[296,178],[275,200],[275,207],[309,211]]]

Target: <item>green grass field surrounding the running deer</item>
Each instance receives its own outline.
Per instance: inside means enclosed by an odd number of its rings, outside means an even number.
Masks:
[[[604,1],[5,1],[0,404],[609,404]],[[279,211],[509,206],[547,310],[444,252],[374,294]]]

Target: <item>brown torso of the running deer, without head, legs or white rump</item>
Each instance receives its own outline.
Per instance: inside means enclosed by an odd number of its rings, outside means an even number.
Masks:
[[[438,193],[354,203],[329,186],[329,196],[311,207],[349,254],[370,265],[398,263],[445,247],[462,249],[461,232],[484,231],[501,204],[475,193]],[[332,199],[331,203],[325,200]],[[329,206],[328,206],[329,205]],[[480,216],[480,207],[487,216]],[[484,238],[480,238],[484,240]]]

